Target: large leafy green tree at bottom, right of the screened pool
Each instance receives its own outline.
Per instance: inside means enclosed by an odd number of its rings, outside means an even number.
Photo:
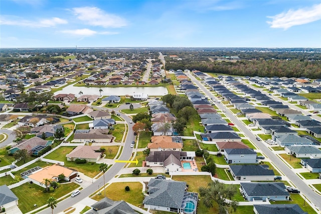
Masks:
[[[215,180],[208,184],[208,187],[201,186],[199,188],[202,201],[205,206],[212,207],[213,201],[219,205],[219,213],[226,214],[228,207],[232,207],[234,211],[238,206],[238,202],[228,202],[236,194],[236,190],[232,185],[225,185]]]

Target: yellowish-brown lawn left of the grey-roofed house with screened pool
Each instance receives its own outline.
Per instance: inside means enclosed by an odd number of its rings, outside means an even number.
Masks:
[[[129,191],[125,191],[125,187],[129,186]],[[135,206],[141,207],[141,202],[144,199],[142,193],[142,184],[139,182],[120,182],[112,183],[106,188],[106,197],[112,200],[124,200]],[[101,200],[104,198],[103,188],[100,189],[101,195],[92,197],[94,200]],[[116,193],[116,194],[115,194]]]

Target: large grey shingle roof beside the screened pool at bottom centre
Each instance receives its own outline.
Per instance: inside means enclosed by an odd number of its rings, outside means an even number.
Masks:
[[[186,182],[151,178],[143,204],[181,208]]]

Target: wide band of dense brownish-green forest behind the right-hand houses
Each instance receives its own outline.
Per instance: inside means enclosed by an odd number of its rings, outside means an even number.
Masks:
[[[209,73],[223,73],[241,76],[286,76],[321,78],[321,61],[307,60],[238,60],[231,61],[187,61],[167,58],[166,69],[200,70]]]

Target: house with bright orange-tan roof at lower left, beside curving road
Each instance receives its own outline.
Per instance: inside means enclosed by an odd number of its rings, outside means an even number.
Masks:
[[[70,181],[71,179],[77,177],[78,172],[67,167],[61,166],[59,164],[54,164],[52,166],[47,166],[42,168],[41,170],[29,174],[28,178],[33,183],[46,188],[44,179],[49,179],[50,181],[57,181],[59,180],[59,175],[65,175],[64,180]],[[49,185],[50,186],[50,185]]]

